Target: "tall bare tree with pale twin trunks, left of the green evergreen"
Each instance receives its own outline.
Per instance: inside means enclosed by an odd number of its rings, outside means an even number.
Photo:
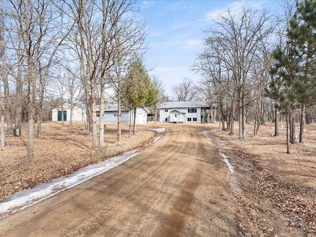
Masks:
[[[97,90],[100,89],[100,113],[104,113],[104,86],[109,70],[118,63],[118,51],[126,41],[133,41],[132,36],[124,35],[132,31],[134,25],[128,18],[133,10],[132,0],[72,0],[63,1],[68,6],[65,14],[74,20],[74,31],[68,44],[78,55],[80,78],[85,91],[87,115],[92,135],[92,147],[104,147],[104,119],[100,117],[99,143],[97,137],[96,105]],[[102,21],[96,18],[102,17]],[[120,37],[116,38],[115,36]],[[127,38],[124,38],[126,37]],[[118,40],[119,39],[119,40]],[[117,40],[117,41],[116,41]],[[119,45],[117,45],[119,43]],[[132,48],[132,46],[131,46]],[[127,49],[126,49],[127,50]]]

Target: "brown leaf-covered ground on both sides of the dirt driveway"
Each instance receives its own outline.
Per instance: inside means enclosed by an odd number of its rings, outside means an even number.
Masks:
[[[253,124],[246,124],[245,139],[237,137],[237,122],[234,135],[214,131],[218,124],[192,125],[213,130],[210,134],[221,138],[237,155],[228,159],[235,171],[230,178],[237,183],[232,192],[242,233],[254,237],[316,237],[316,124],[306,125],[304,143],[291,144],[291,154],[286,154],[286,130],[280,129],[280,136],[274,137],[273,123],[261,125],[257,136],[253,136]],[[7,137],[7,146],[0,150],[0,198],[127,150],[147,146],[155,136],[153,131],[138,129],[129,139],[128,127],[124,126],[122,142],[117,143],[116,126],[108,125],[106,154],[97,156],[90,152],[92,138],[83,124],[48,122],[43,124],[42,137],[35,139],[34,158],[28,158],[27,126],[23,128],[22,137]],[[218,145],[216,141],[214,144]]]

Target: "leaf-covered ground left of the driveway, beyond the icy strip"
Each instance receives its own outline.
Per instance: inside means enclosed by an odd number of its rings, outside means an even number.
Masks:
[[[0,201],[18,191],[29,189],[50,179],[67,175],[89,164],[149,145],[155,132],[138,129],[128,138],[128,126],[123,125],[122,141],[117,142],[116,125],[105,129],[105,151],[91,153],[92,137],[84,124],[45,122],[41,138],[34,141],[35,153],[27,156],[27,126],[21,137],[6,137],[0,149]]]

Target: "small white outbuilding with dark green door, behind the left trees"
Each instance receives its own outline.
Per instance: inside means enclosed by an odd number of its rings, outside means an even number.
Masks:
[[[78,104],[73,109],[73,114],[70,113],[70,103],[65,103],[62,106],[52,110],[52,121],[61,121],[62,115],[64,116],[64,121],[70,121],[70,116],[73,117],[73,121],[84,121],[86,120],[86,107],[83,104]]]

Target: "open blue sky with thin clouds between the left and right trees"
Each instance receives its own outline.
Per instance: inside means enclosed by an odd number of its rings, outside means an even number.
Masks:
[[[144,55],[150,75],[157,75],[165,92],[172,97],[170,87],[184,77],[195,83],[199,75],[190,70],[196,54],[203,48],[203,30],[228,7],[238,15],[244,6],[267,8],[271,13],[282,11],[281,0],[145,0],[140,1],[139,16],[147,23],[148,49]]]

